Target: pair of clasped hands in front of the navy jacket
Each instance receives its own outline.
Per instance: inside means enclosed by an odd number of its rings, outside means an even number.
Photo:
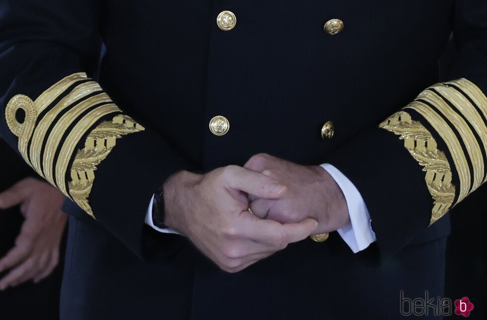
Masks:
[[[164,202],[165,224],[228,272],[349,223],[343,194],[325,170],[266,154],[243,168],[178,172],[164,184]]]

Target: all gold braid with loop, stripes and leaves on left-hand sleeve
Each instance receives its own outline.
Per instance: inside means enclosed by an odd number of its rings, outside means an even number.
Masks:
[[[121,113],[97,82],[75,73],[35,101],[25,95],[14,96],[5,109],[5,119],[18,137],[24,160],[93,216],[88,196],[96,166],[110,153],[116,139],[144,130]],[[79,150],[82,142],[84,148]]]

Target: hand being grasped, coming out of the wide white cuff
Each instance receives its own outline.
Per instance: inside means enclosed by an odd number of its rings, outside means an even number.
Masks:
[[[256,216],[280,223],[314,218],[319,223],[315,234],[350,224],[345,197],[322,167],[301,166],[268,154],[257,154],[244,168],[274,178],[287,187],[278,199],[262,199],[249,194],[250,208]]]

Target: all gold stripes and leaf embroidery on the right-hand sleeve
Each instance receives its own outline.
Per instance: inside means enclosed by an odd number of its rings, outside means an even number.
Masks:
[[[434,200],[433,223],[486,182],[487,97],[474,83],[462,78],[427,88],[404,109],[380,127],[400,135],[411,155],[424,167]],[[443,151],[449,152],[452,163],[437,150],[431,133],[410,119],[408,109],[433,128],[446,145],[448,150]],[[458,177],[458,189],[451,184],[452,175]]]

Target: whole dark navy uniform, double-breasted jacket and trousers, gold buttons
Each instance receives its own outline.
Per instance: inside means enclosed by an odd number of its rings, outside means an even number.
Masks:
[[[1,135],[87,213],[65,319],[394,319],[400,290],[442,294],[444,216],[486,180],[485,0],[0,3]],[[144,228],[169,175],[259,152],[338,168],[377,244],[331,235],[226,274]]]

